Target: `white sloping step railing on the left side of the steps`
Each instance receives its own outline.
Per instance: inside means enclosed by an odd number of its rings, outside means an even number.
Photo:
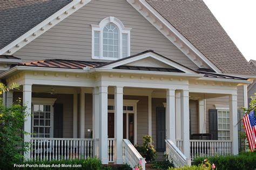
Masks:
[[[140,166],[145,170],[145,158],[139,154],[137,149],[128,139],[123,139],[123,161],[124,164],[130,165],[131,168]]]

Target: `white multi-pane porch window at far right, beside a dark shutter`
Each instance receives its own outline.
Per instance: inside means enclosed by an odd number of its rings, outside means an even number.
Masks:
[[[218,139],[230,140],[230,111],[218,110]]]

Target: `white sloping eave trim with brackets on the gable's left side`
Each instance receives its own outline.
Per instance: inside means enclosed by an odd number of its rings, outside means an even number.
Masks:
[[[0,50],[0,55],[12,55],[13,53],[21,49],[23,46],[30,43],[32,40],[36,39],[44,32],[48,31],[56,24],[63,21],[63,19],[70,16],[78,9],[82,8],[85,4],[89,3],[90,1],[91,0],[73,0],[72,2],[64,6],[62,9],[58,10],[57,12],[53,13],[53,15],[46,18],[43,22],[39,23],[31,30],[24,33],[22,36],[15,39],[12,43],[3,47],[3,49]],[[73,8],[74,6],[75,8]]]

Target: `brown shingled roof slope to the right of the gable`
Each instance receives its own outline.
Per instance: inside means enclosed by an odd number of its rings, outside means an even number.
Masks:
[[[255,74],[203,1],[146,2],[224,73]]]

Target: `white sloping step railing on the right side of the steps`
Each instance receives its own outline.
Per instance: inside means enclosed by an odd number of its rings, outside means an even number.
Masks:
[[[180,149],[171,141],[165,140],[167,159],[172,162],[174,167],[183,167],[191,165],[191,159],[186,158]]]

